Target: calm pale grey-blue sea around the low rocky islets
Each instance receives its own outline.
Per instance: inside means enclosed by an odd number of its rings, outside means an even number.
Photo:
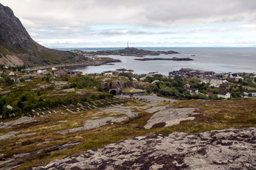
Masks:
[[[154,57],[190,57],[193,61],[137,61],[131,56],[108,55],[122,62],[114,65],[76,67],[73,71],[82,71],[84,74],[101,73],[120,68],[133,69],[136,74],[159,72],[168,75],[169,72],[181,68],[200,69],[203,71],[223,72],[256,72],[256,48],[242,47],[138,47],[144,50],[174,50],[180,52],[177,55],[145,56]],[[78,50],[117,50],[123,48],[77,48]],[[72,50],[72,49],[62,49]],[[191,56],[195,55],[195,56]]]

